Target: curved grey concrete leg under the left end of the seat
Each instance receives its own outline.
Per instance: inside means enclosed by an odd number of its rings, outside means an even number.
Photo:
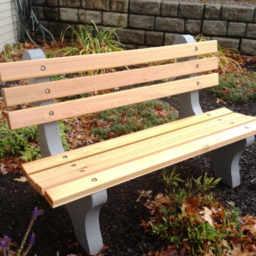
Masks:
[[[87,253],[92,255],[99,254],[103,247],[99,211],[106,202],[107,190],[105,189],[66,204],[77,241]]]

